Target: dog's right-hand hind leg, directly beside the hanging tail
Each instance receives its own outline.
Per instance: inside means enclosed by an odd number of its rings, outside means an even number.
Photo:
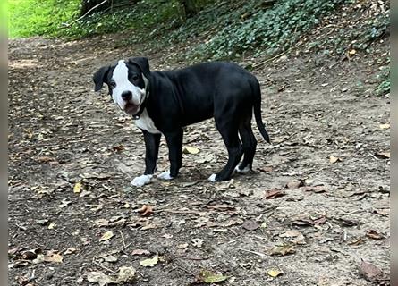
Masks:
[[[243,161],[236,166],[236,172],[249,172],[252,168],[254,154],[256,153],[257,140],[251,130],[251,116],[249,120],[241,122],[239,126],[239,135],[243,145]]]

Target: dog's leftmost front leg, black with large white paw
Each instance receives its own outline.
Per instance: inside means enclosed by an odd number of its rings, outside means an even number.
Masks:
[[[145,172],[139,177],[135,177],[131,181],[131,185],[140,187],[148,184],[157,170],[157,154],[159,153],[160,137],[162,134],[149,133],[147,130],[142,130],[145,141]]]

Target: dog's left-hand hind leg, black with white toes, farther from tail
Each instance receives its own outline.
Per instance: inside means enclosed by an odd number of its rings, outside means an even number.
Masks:
[[[238,136],[238,125],[234,122],[217,122],[217,129],[220,131],[221,136],[224,139],[225,147],[228,150],[228,162],[224,166],[224,169],[217,174],[212,174],[209,181],[226,181],[231,178],[233,170],[243,154],[243,148],[241,147],[241,140]]]

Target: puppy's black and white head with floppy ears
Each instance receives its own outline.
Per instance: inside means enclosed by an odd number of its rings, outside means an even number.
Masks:
[[[146,57],[133,57],[116,64],[103,66],[94,73],[95,91],[99,91],[104,82],[114,103],[126,114],[140,112],[140,105],[147,97],[149,63]]]

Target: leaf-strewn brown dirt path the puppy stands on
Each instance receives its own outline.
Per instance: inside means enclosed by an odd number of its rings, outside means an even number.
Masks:
[[[138,270],[136,285],[159,286],[189,285],[202,269],[229,276],[225,285],[371,285],[361,259],[389,274],[389,99],[371,95],[376,65],[282,58],[255,71],[273,142],[256,130],[255,172],[207,182],[226,158],[208,121],[188,128],[200,152],[184,155],[177,180],[132,189],[140,131],[91,83],[103,63],[138,54],[116,44],[10,43],[10,285],[89,285],[85,273],[123,265]],[[163,141],[160,172],[166,156]],[[139,214],[143,205],[154,213]],[[114,237],[100,242],[106,231]],[[35,248],[63,262],[36,263],[24,253]],[[143,267],[134,249],[161,261]]]

